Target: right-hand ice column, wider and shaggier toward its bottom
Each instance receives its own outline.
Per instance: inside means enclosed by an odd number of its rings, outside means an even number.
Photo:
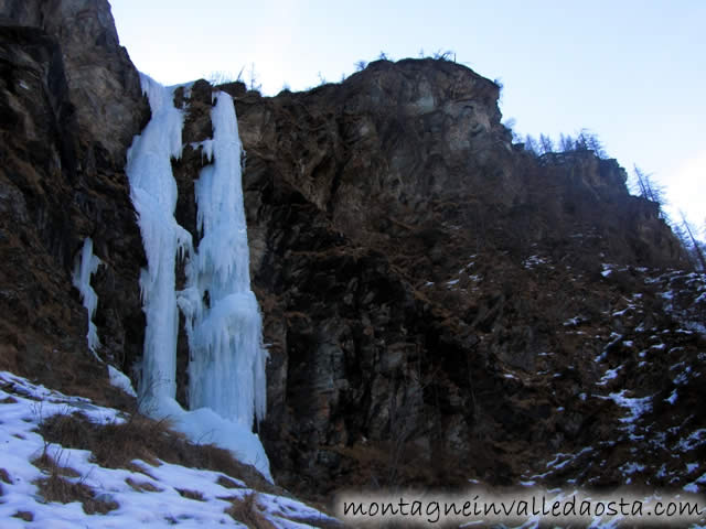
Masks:
[[[242,145],[233,99],[217,93],[212,109],[214,163],[195,183],[197,251],[186,267],[180,298],[188,319],[191,409],[211,408],[246,428],[265,415],[261,317],[250,290],[243,206]]]

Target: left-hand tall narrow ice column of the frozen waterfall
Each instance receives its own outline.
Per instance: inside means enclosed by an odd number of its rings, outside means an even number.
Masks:
[[[140,74],[152,119],[128,151],[130,195],[138,214],[147,269],[140,277],[147,321],[140,395],[159,407],[176,392],[176,255],[191,247],[191,235],[174,219],[176,183],[171,159],[180,158],[183,112],[172,104],[172,90]]]

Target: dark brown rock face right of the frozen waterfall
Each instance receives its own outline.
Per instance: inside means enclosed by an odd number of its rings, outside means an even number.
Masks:
[[[512,484],[528,454],[596,435],[595,403],[554,410],[596,382],[585,356],[610,342],[601,263],[682,263],[614,161],[518,151],[498,87],[453,63],[378,62],[275,98],[223,88],[247,152],[281,483]],[[577,314],[592,342],[564,333]]]

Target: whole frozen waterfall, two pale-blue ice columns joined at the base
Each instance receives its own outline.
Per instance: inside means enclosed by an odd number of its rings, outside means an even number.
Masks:
[[[174,108],[172,89],[146,75],[141,83],[152,119],[135,138],[126,168],[148,261],[140,278],[147,320],[141,408],[156,418],[169,417],[194,442],[231,450],[271,479],[263,445],[252,432],[254,419],[265,414],[267,353],[249,282],[233,99],[223,93],[215,96],[214,138],[205,145],[213,163],[195,183],[202,239],[194,250],[191,234],[174,218],[178,188],[171,159],[181,155],[183,111]],[[182,292],[175,291],[178,256],[188,259]],[[190,343],[191,411],[174,399],[178,304]]]

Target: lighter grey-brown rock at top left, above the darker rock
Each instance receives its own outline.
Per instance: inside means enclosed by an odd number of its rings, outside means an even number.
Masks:
[[[88,163],[124,161],[135,130],[145,125],[140,82],[120,46],[106,0],[3,0],[0,19],[39,28],[61,46],[68,98],[89,149]]]

